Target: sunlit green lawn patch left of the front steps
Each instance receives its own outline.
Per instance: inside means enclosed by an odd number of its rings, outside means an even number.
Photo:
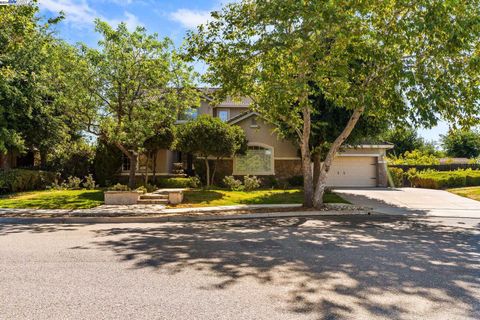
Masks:
[[[0,197],[0,208],[88,209],[101,204],[102,190],[42,190]]]

